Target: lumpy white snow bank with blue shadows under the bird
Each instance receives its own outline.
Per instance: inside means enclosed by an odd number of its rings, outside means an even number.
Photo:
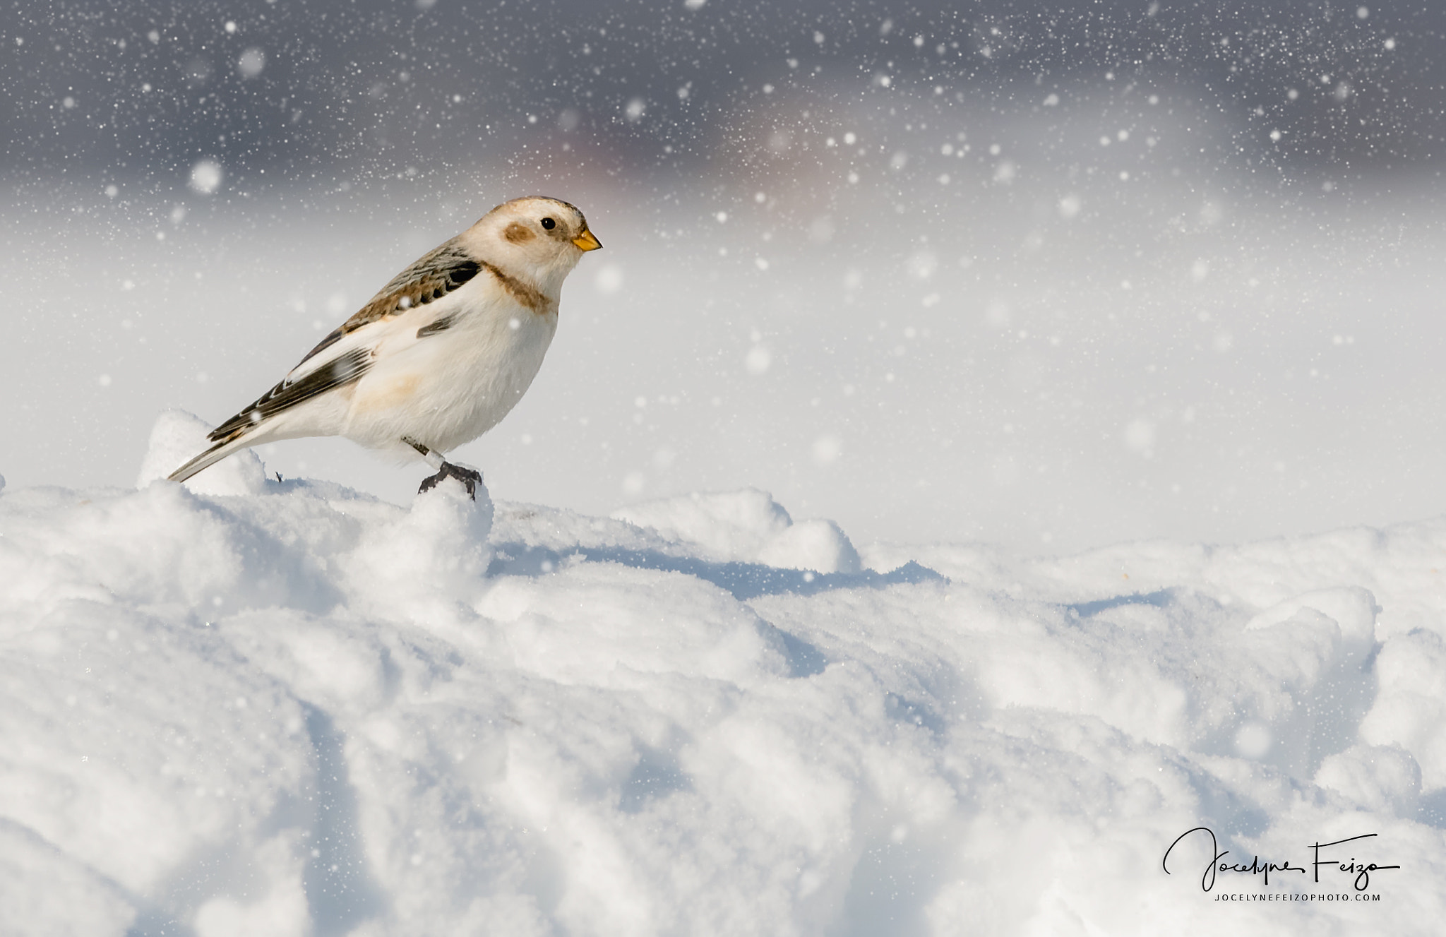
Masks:
[[[163,418],[142,479],[192,431]],[[1446,519],[860,565],[761,492],[590,518],[231,471],[0,492],[6,933],[1446,914]],[[1374,904],[1222,907],[1258,878],[1160,868],[1196,826],[1244,862],[1377,833],[1353,855],[1401,869]]]

